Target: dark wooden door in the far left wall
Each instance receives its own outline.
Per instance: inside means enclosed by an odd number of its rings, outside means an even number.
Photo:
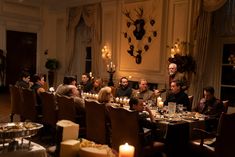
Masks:
[[[37,34],[7,31],[6,86],[15,84],[21,71],[36,73]]]

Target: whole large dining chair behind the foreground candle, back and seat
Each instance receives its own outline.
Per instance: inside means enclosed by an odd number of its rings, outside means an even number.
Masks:
[[[158,154],[164,149],[161,142],[143,145],[143,135],[140,133],[138,112],[120,107],[109,106],[111,120],[111,147],[118,151],[119,146],[125,143],[135,147],[135,157],[144,157],[147,154]]]

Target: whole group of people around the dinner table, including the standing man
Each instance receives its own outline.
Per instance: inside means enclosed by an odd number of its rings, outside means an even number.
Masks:
[[[44,79],[44,75],[38,74],[34,75],[31,79],[29,73],[23,72],[20,80],[16,82],[16,86],[35,91],[38,106],[41,106],[40,93],[46,91],[46,89],[44,89]],[[97,94],[97,101],[104,104],[115,102],[114,97],[126,97],[129,98],[129,109],[136,110],[140,113],[140,120],[142,121],[140,125],[146,128],[154,126],[151,124],[151,122],[154,121],[153,113],[149,106],[145,105],[145,102],[150,100],[153,102],[152,105],[156,104],[157,98],[161,95],[162,91],[152,91],[148,89],[146,79],[139,81],[138,89],[132,89],[132,87],[129,86],[127,77],[120,78],[119,87],[117,88],[103,86],[101,78],[91,79],[90,75],[87,73],[82,74],[81,80],[82,81],[77,85],[76,77],[65,76],[63,83],[56,88],[55,95],[73,97],[76,104],[79,105],[79,108],[81,106],[85,108],[83,93]],[[177,105],[183,104],[187,111],[195,111],[217,118],[224,111],[222,101],[214,96],[213,87],[205,87],[203,89],[203,98],[195,107],[192,107],[188,95],[185,92],[188,88],[187,81],[184,75],[177,71],[177,65],[174,63],[169,65],[169,82],[170,87],[166,90],[166,99],[163,102],[164,106],[167,106],[169,102],[175,102]],[[39,107],[38,114],[40,113],[41,109]]]

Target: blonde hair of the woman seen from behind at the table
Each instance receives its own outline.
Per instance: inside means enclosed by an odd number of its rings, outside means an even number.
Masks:
[[[98,93],[98,102],[100,103],[110,102],[111,97],[112,97],[111,92],[112,92],[112,89],[108,86],[101,88]]]

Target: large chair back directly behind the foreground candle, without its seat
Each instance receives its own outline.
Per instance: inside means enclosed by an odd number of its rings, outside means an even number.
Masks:
[[[138,112],[110,106],[109,115],[112,148],[118,151],[120,145],[128,143],[135,147],[135,156],[138,156],[141,152]]]

